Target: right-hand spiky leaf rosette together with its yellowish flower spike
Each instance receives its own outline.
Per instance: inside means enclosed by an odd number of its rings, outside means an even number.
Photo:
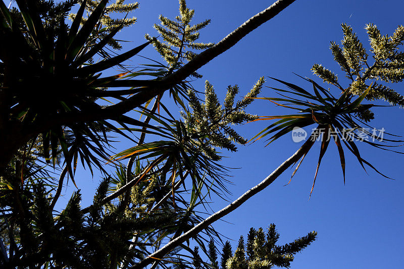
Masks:
[[[338,75],[325,67],[314,64],[312,68],[313,73],[323,79],[325,83],[332,84],[339,91],[342,91],[339,98],[334,97],[330,91],[307,78],[305,80],[312,84],[314,94],[297,85],[275,79],[287,86],[288,89],[272,88],[279,94],[279,97],[259,97],[259,99],[266,99],[276,105],[292,109],[296,114],[260,117],[256,121],[276,120],[276,122],[269,125],[253,139],[258,140],[270,135],[269,144],[289,133],[293,128],[317,126],[311,138],[293,155],[295,158],[289,159],[291,162],[287,161],[281,166],[293,165],[301,158],[292,173],[293,177],[314,142],[321,140],[319,160],[310,194],[313,192],[320,163],[330,141],[334,141],[337,146],[344,183],[345,155],[343,145],[355,155],[364,170],[366,166],[370,167],[386,178],[389,177],[379,172],[361,155],[357,143],[365,143],[379,149],[402,154],[401,151],[394,150],[395,147],[400,146],[402,140],[398,140],[397,136],[389,133],[380,135],[380,131],[368,123],[374,119],[371,109],[383,106],[375,104],[376,100],[385,100],[391,105],[402,107],[403,96],[389,86],[383,85],[383,83],[399,83],[404,78],[403,52],[400,50],[400,46],[404,42],[404,27],[398,26],[394,33],[388,36],[382,35],[376,25],[366,25],[365,29],[371,47],[371,57],[369,57],[352,27],[346,24],[341,24],[341,26],[344,34],[341,41],[342,47],[332,41],[330,50],[334,60],[348,80],[347,86],[341,86],[342,82],[338,80]],[[363,103],[364,100],[373,101],[373,103],[365,104]]]

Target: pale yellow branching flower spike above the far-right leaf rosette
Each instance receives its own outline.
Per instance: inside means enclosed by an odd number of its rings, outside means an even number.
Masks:
[[[398,26],[392,35],[382,35],[374,24],[367,24],[365,29],[370,41],[370,56],[364,45],[351,26],[341,24],[344,38],[341,45],[332,41],[330,49],[334,60],[341,67],[345,78],[349,80],[347,90],[354,95],[361,95],[372,83],[367,100],[382,99],[392,105],[404,107],[404,97],[396,90],[385,85],[398,83],[404,79],[404,52],[401,46],[404,42],[404,26]],[[333,84],[344,90],[338,76],[323,67],[313,65],[314,74],[324,82]],[[373,113],[361,114],[361,118],[369,121],[374,118]]]

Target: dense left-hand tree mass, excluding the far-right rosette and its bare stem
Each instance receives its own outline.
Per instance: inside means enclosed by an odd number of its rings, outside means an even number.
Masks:
[[[70,16],[72,22],[66,23],[76,1],[18,0],[18,8],[11,10],[2,1],[0,37],[6,40],[0,44],[2,266],[144,267],[156,261],[150,257],[155,258],[157,251],[165,258],[157,259],[161,266],[170,262],[187,266],[188,256],[178,251],[187,250],[182,242],[190,237],[183,235],[204,221],[196,208],[204,206],[210,192],[226,192],[227,170],[218,163],[216,148],[234,151],[235,143],[246,142],[230,125],[257,118],[244,109],[264,79],[239,101],[234,100],[238,87],[229,87],[223,106],[213,85],[206,84],[206,99],[201,102],[186,79],[200,77],[195,73],[199,67],[292,2],[278,1],[213,45],[196,42],[198,31],[209,21],[192,25],[194,11],[180,1],[177,21],[161,17],[168,30],[156,27],[163,41],[147,36],[147,42],[114,56],[106,46],[119,49],[115,34],[135,20],[114,20],[110,15],[132,11],[137,4],[84,0]],[[167,64],[102,76],[114,66],[124,67],[124,61],[149,43]],[[168,44],[176,48],[171,54],[159,49]],[[204,51],[197,55],[197,49]],[[94,63],[95,57],[100,61]],[[138,79],[142,75],[154,78]],[[113,90],[120,87],[126,89]],[[167,110],[162,102],[165,91],[182,108],[182,118]],[[113,99],[114,104],[102,105],[100,99]],[[190,101],[191,109],[184,100]],[[125,115],[133,109],[145,117],[143,122]],[[134,147],[110,151],[111,137],[117,134]],[[158,139],[146,143],[146,134]],[[120,163],[122,159],[128,159],[127,166]],[[104,160],[116,171],[107,171]],[[60,206],[64,185],[70,180],[79,186],[75,171],[80,164],[91,173],[94,168],[103,173],[93,203],[82,208],[78,190]],[[182,195],[187,186],[190,196]],[[209,225],[192,236],[203,250],[212,237],[219,234]],[[178,238],[180,244],[162,247]]]

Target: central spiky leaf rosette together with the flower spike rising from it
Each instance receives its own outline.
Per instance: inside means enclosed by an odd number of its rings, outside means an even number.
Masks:
[[[147,171],[137,179],[137,182],[145,180],[147,173],[158,168],[163,178],[169,177],[168,173],[174,178],[178,173],[181,180],[185,181],[184,175],[189,173],[194,188],[198,189],[198,186],[203,184],[216,193],[219,190],[227,192],[223,184],[225,181],[223,176],[226,175],[227,169],[218,163],[221,156],[216,148],[236,151],[234,143],[246,143],[246,139],[229,125],[257,119],[257,116],[247,114],[244,109],[254,101],[253,97],[260,93],[263,84],[264,78],[260,78],[256,85],[237,102],[234,102],[234,98],[239,89],[237,86],[229,86],[223,108],[209,82],[206,83],[205,103],[201,103],[196,94],[189,90],[189,105],[193,111],[190,112],[181,103],[184,110],[182,113],[184,122],[176,120],[163,103],[160,105],[167,113],[167,117],[155,115],[149,110],[143,109],[140,113],[155,121],[159,126],[149,125],[147,130],[136,128],[130,128],[130,130],[158,135],[166,140],[143,143],[124,150],[112,158],[114,160],[130,157],[137,157],[138,160],[154,158],[154,161],[150,162],[147,167]]]

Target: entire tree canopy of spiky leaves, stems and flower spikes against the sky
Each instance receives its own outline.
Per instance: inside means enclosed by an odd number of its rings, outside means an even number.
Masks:
[[[344,181],[342,144],[364,169],[366,165],[382,174],[360,154],[357,143],[392,150],[402,142],[394,137],[380,139],[364,132],[362,126],[373,120],[375,100],[402,106],[402,96],[381,82],[401,82],[404,76],[399,50],[404,41],[402,26],[388,37],[375,25],[367,25],[371,62],[352,28],[342,24],[342,47],[332,42],[330,48],[349,83],[341,86],[337,75],[319,64],[312,69],[324,82],[336,86],[339,97],[311,79],[306,79],[308,90],[276,79],[285,85],[285,89],[274,88],[281,97],[260,97],[265,83],[265,77],[260,76],[242,97],[237,85],[228,86],[223,98],[209,80],[205,92],[193,87],[193,80],[202,77],[197,73],[200,67],[293,2],[279,0],[218,43],[204,43],[198,39],[210,20],[194,22],[195,11],[179,0],[177,17],[161,15],[161,24],[154,25],[156,33],[146,34],[146,40],[138,37],[134,48],[120,52],[123,42],[115,35],[136,22],[128,15],[138,9],[138,3],[16,0],[18,8],[10,9],[2,1],[2,266],[289,267],[293,255],[316,239],[316,232],[276,245],[280,235],[274,224],[266,233],[262,228],[251,228],[246,244],[241,236],[233,253],[212,224],[300,160],[293,176],[318,139],[321,149],[312,191],[331,140],[337,145]],[[127,60],[151,45],[164,62],[145,59],[148,62],[138,69],[127,65]],[[123,71],[105,76],[114,67]],[[297,114],[249,114],[256,99],[269,100]],[[179,113],[168,108],[170,100]],[[364,103],[366,100],[372,103]],[[230,168],[222,164],[219,151],[234,152],[248,142],[236,125],[261,120],[275,122],[253,139],[270,135],[269,143],[295,127],[314,125],[315,131],[312,139],[261,183],[206,218],[210,196],[226,200],[228,194]],[[330,135],[336,130],[338,135]],[[346,130],[351,130],[349,136]],[[373,141],[361,140],[363,135]],[[116,137],[131,141],[133,146],[116,151]],[[84,190],[78,189],[75,176],[79,166],[102,175],[87,207],[80,205]],[[69,180],[77,190],[60,205],[62,189]],[[191,239],[197,246],[191,247]],[[201,258],[199,251],[207,259]]]

